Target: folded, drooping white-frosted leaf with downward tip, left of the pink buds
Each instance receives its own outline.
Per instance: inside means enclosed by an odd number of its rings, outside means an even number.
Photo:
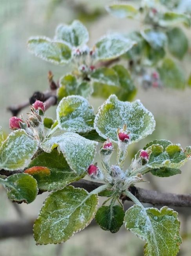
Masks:
[[[81,175],[93,162],[97,144],[96,141],[85,139],[79,134],[66,132],[62,135],[45,139],[41,143],[41,148],[45,152],[51,152],[53,148],[59,146],[70,168],[78,175]]]

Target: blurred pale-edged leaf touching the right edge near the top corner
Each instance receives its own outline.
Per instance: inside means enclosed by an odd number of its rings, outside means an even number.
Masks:
[[[191,25],[191,19],[188,15],[183,13],[174,13],[166,12],[162,15],[162,18],[159,20],[160,26],[174,26],[176,24],[183,23],[185,26]]]

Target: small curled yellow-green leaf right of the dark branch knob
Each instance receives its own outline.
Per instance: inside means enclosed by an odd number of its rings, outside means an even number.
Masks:
[[[58,88],[58,100],[69,95],[80,95],[88,98],[93,93],[93,87],[90,83],[76,80],[72,74],[67,74],[60,78],[60,87]]]

